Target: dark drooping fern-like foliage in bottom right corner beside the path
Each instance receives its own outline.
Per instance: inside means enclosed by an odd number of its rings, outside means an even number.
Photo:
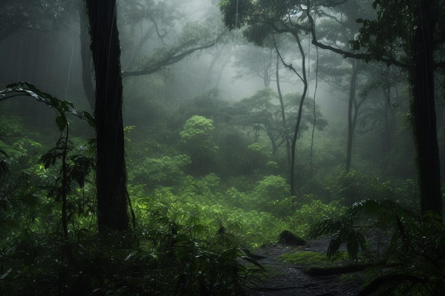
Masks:
[[[366,247],[365,229],[390,232],[382,260],[372,268],[360,296],[444,294],[445,228],[439,215],[419,216],[387,199],[367,199],[353,204],[341,219],[322,219],[309,236],[331,235],[328,256],[346,243],[349,256],[356,259],[359,246],[362,251]]]

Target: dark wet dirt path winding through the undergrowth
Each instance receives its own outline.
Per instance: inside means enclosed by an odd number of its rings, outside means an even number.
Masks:
[[[306,246],[289,246],[271,243],[257,249],[254,253],[264,256],[258,260],[266,270],[258,281],[247,287],[247,296],[346,296],[358,295],[363,284],[363,273],[344,273],[341,275],[308,275],[307,268],[320,267],[313,263],[290,263],[280,258],[284,254],[296,252],[326,253],[329,240],[310,241]]]

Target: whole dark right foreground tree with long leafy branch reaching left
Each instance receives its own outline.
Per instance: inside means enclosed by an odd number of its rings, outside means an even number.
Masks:
[[[377,60],[402,67],[409,73],[411,116],[419,175],[420,212],[432,211],[443,216],[440,185],[439,146],[436,136],[434,71],[444,67],[439,50],[444,45],[445,8],[441,1],[373,2],[377,18],[358,19],[362,24],[357,38],[351,41],[360,53],[348,53],[323,44],[316,38],[315,22],[310,9],[312,43],[345,57],[365,61]],[[399,13],[394,13],[399,11]]]

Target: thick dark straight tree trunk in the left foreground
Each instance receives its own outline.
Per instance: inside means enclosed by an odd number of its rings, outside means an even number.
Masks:
[[[100,231],[124,231],[129,217],[116,1],[86,3],[96,78],[97,223]]]

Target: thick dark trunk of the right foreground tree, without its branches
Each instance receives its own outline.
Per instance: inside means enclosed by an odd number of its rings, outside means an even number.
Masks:
[[[434,106],[434,11],[431,0],[418,2],[412,29],[412,126],[419,172],[420,212],[443,216],[439,146]]]

